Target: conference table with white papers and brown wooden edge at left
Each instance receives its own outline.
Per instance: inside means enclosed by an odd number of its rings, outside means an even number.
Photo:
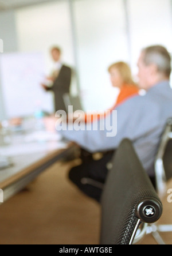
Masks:
[[[76,145],[63,141],[55,131],[33,130],[10,135],[8,143],[0,144],[0,160],[1,157],[9,160],[9,166],[0,170],[3,202],[24,189],[50,165],[73,155],[76,150]]]

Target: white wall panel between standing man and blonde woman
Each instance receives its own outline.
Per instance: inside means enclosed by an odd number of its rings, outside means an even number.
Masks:
[[[127,34],[122,0],[75,0],[80,88],[85,110],[114,106],[108,66],[128,61]]]

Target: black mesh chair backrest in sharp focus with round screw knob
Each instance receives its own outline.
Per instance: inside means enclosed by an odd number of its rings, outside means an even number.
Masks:
[[[132,244],[136,229],[161,217],[162,204],[130,140],[112,160],[101,198],[100,244]]]

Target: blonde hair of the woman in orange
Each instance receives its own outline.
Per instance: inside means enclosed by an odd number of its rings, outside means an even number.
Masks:
[[[120,75],[123,78],[124,84],[136,85],[132,78],[130,66],[126,62],[122,62],[122,61],[116,62],[108,68],[108,71],[111,72],[111,69],[114,69],[114,68],[118,69]]]

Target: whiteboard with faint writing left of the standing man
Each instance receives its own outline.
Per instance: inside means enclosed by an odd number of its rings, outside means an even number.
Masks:
[[[45,76],[44,58],[40,52],[2,54],[0,58],[2,96],[6,115],[33,115],[39,104],[53,112],[53,97],[45,92],[41,81]]]

